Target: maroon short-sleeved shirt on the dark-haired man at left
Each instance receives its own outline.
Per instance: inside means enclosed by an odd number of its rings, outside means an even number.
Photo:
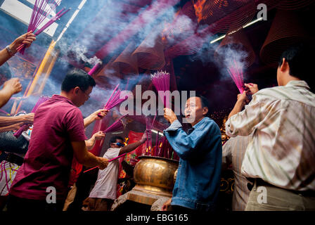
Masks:
[[[56,188],[57,199],[68,194],[73,150],[71,141],[84,141],[82,113],[68,98],[53,95],[39,105],[34,116],[30,146],[18,170],[10,194],[19,198],[45,200]]]

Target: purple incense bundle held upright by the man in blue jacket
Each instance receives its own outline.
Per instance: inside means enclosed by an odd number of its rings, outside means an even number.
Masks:
[[[158,95],[163,101],[164,106],[169,108],[169,73],[162,71],[155,72],[155,74],[151,75],[151,79],[155,89],[158,91]]]

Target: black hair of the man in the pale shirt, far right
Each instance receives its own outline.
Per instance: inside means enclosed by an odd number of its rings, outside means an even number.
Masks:
[[[283,63],[283,58],[288,62],[290,71],[289,74],[306,81],[308,84],[313,75],[311,67],[314,56],[314,45],[312,44],[297,44],[285,50],[279,59],[278,67]],[[309,84],[310,85],[310,84]]]

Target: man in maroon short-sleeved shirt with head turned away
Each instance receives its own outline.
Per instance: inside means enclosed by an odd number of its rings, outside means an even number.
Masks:
[[[107,167],[107,159],[86,150],[84,120],[78,108],[95,85],[83,70],[72,70],[63,80],[61,94],[36,110],[30,146],[10,189],[8,211],[61,211],[73,155],[83,165]]]

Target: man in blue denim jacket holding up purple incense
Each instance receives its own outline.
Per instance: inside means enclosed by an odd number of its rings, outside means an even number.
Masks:
[[[184,114],[192,128],[187,133],[174,112],[164,109],[164,117],[171,123],[164,134],[180,160],[173,196],[162,210],[167,210],[169,205],[181,212],[215,209],[221,179],[221,132],[207,117],[207,105],[203,96],[188,98]]]

